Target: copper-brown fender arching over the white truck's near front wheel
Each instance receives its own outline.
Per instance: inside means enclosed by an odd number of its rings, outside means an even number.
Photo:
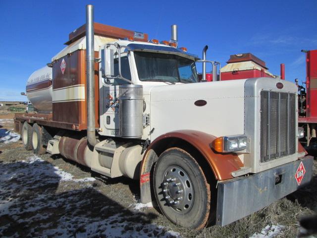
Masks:
[[[196,148],[203,158],[207,161],[215,179],[225,180],[231,179],[231,172],[239,170],[243,167],[243,163],[236,154],[220,154],[211,149],[211,142],[216,138],[211,134],[195,130],[177,130],[163,134],[156,138],[148,147],[141,164],[140,188],[141,202],[151,202],[151,184],[150,176],[154,162],[158,159],[159,154],[156,151],[163,152],[170,148],[164,146],[164,141],[168,139],[180,139]]]

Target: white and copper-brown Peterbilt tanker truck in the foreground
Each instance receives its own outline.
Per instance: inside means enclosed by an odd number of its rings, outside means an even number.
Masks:
[[[28,79],[37,113],[14,118],[27,150],[138,179],[142,203],[192,229],[225,226],[310,182],[295,84],[198,82],[196,63],[206,79],[217,62],[178,47],[176,25],[159,41],[93,19],[87,5],[86,24]]]

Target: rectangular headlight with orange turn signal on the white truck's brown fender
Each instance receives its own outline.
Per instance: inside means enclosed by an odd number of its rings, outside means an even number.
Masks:
[[[246,135],[222,136],[214,139],[212,148],[220,153],[242,151],[248,148],[248,137]]]

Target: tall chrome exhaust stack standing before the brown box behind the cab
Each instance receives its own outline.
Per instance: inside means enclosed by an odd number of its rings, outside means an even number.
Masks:
[[[95,46],[94,6],[86,5],[86,80],[87,80],[87,139],[92,146],[97,144],[95,115]]]

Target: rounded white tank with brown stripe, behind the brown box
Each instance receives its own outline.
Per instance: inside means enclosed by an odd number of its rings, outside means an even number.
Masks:
[[[38,112],[53,111],[52,68],[45,66],[31,74],[26,83],[26,95]]]

